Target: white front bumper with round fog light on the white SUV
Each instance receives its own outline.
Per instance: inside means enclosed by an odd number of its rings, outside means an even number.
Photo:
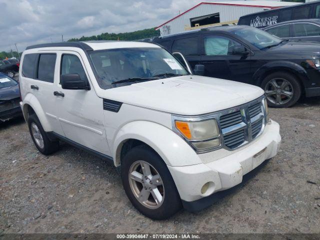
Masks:
[[[279,124],[270,120],[259,137],[237,150],[219,149],[199,154],[203,162],[200,164],[168,166],[183,205],[189,210],[199,210],[208,206],[211,202],[202,198],[212,198],[213,201],[212,193],[239,184],[244,174],[256,168],[265,159],[275,156],[280,141]],[[213,160],[209,161],[210,157]],[[206,182],[210,182],[208,189],[201,193],[201,187]],[[203,204],[199,205],[197,202]]]

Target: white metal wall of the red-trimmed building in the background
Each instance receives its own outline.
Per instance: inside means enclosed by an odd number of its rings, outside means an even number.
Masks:
[[[263,11],[263,7],[250,7],[250,6],[231,6],[231,5],[213,5],[201,4],[183,15],[173,19],[167,24],[160,27],[161,35],[166,35],[164,28],[170,27],[170,34],[184,31],[185,26],[190,26],[190,18],[208,15],[212,13],[220,13],[220,22],[237,20],[240,16]]]

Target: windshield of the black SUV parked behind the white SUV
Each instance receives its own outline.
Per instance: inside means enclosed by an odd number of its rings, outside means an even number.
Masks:
[[[244,38],[259,49],[277,45],[281,42],[280,38],[255,27],[241,28],[233,31],[233,34]]]

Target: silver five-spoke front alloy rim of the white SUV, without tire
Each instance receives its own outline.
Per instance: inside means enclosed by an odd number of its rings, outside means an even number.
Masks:
[[[158,208],[164,200],[160,174],[146,161],[135,161],[129,168],[129,184],[135,198],[145,207]]]

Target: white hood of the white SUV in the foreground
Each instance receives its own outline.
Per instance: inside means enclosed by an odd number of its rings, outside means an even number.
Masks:
[[[169,113],[198,115],[246,103],[263,93],[250,84],[186,75],[107,89],[101,97]]]

